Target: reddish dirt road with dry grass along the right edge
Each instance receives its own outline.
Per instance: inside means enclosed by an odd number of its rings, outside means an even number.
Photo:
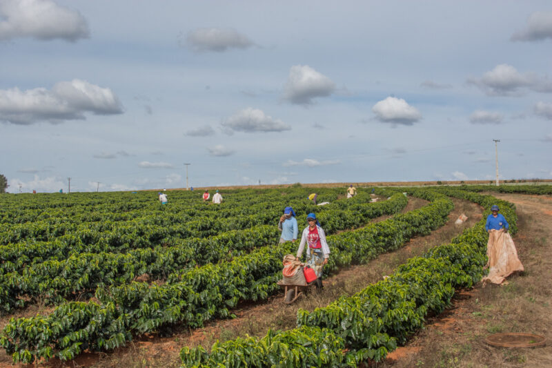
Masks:
[[[552,367],[552,197],[492,194],[516,205],[513,240],[524,273],[502,286],[477,284],[459,293],[450,309],[374,367]],[[485,344],[486,336],[500,332],[535,333],[547,346]]]

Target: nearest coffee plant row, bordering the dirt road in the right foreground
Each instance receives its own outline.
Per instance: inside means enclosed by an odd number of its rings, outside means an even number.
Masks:
[[[515,231],[515,212],[508,202],[477,193],[466,195],[457,189],[447,192],[469,197],[484,206],[486,214],[492,204],[499,204]],[[440,313],[448,306],[455,288],[471,287],[481,279],[488,238],[484,223],[481,220],[466,229],[451,244],[408,260],[386,280],[369,285],[354,296],[339,298],[312,312],[299,310],[297,329],[269,331],[261,339],[216,343],[210,353],[201,347],[184,347],[181,360],[186,367],[357,367],[363,360],[379,361],[395,349],[397,342],[403,343],[422,327],[427,313]],[[282,354],[280,340],[286,341],[288,336],[305,340],[304,333],[311,336],[308,344],[294,349],[295,354]],[[277,343],[268,343],[273,341]]]

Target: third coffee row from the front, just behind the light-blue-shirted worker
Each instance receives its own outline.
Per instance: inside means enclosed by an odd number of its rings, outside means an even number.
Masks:
[[[357,201],[351,201],[355,208]],[[358,204],[359,208],[351,210],[322,213],[322,221],[328,219],[330,232],[337,229],[347,229],[365,223],[370,218],[382,213],[395,213],[406,205],[403,197],[396,196],[389,202],[373,204]],[[351,205],[349,205],[351,208]],[[130,250],[127,253],[71,253],[63,260],[32,260],[26,255],[21,257],[21,246],[6,246],[4,252],[11,255],[3,262],[6,273],[0,274],[0,285],[3,295],[0,295],[0,307],[9,311],[20,307],[23,300],[43,298],[48,302],[61,302],[63,298],[80,296],[82,293],[92,293],[99,285],[110,286],[126,284],[136,276],[147,273],[152,280],[164,280],[170,273],[208,262],[219,262],[237,255],[242,255],[255,247],[276,244],[278,238],[276,226],[256,226],[254,229],[225,233],[204,240],[175,240],[175,246],[157,246],[154,249]],[[50,247],[56,255],[59,249]],[[75,249],[73,246],[72,249]],[[23,247],[25,253],[37,250],[43,255],[44,247]],[[17,257],[17,260],[14,258]],[[8,259],[6,259],[8,258]],[[31,263],[24,263],[29,260]],[[19,267],[17,267],[19,266]],[[30,298],[30,300],[29,300]]]

